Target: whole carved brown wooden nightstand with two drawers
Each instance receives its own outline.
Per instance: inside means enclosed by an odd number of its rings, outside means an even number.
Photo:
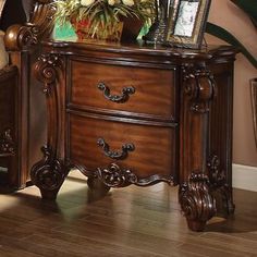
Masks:
[[[231,47],[45,41],[35,65],[48,142],[32,180],[54,199],[71,168],[105,187],[180,185],[188,227],[232,213]]]

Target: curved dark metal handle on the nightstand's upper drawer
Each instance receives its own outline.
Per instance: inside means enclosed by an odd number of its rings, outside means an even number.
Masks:
[[[110,94],[110,88],[103,82],[100,82],[97,85],[97,87],[99,90],[103,91],[105,98],[107,98],[110,101],[118,102],[118,103],[127,101],[130,99],[130,95],[132,95],[136,91],[133,86],[128,86],[128,87],[124,87],[122,89],[121,96],[117,96],[117,95],[112,96]]]

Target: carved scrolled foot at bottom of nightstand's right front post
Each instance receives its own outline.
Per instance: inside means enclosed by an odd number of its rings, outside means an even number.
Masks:
[[[209,180],[205,174],[193,173],[188,182],[182,184],[179,199],[188,228],[203,231],[206,222],[216,213],[213,197],[209,191]]]

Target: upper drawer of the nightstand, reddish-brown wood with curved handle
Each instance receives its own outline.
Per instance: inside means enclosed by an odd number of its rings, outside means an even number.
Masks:
[[[174,70],[71,60],[68,103],[75,108],[120,111],[173,120]],[[132,93],[124,93],[133,87]],[[106,89],[105,89],[106,88]],[[128,89],[130,90],[130,89]],[[122,95],[124,97],[122,97]],[[112,101],[110,98],[119,99]],[[117,112],[115,112],[117,114]]]

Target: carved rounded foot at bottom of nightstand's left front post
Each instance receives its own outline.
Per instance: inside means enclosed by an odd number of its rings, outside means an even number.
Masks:
[[[68,171],[53,158],[51,148],[42,147],[41,150],[44,159],[32,168],[32,182],[39,187],[44,199],[56,199]]]

